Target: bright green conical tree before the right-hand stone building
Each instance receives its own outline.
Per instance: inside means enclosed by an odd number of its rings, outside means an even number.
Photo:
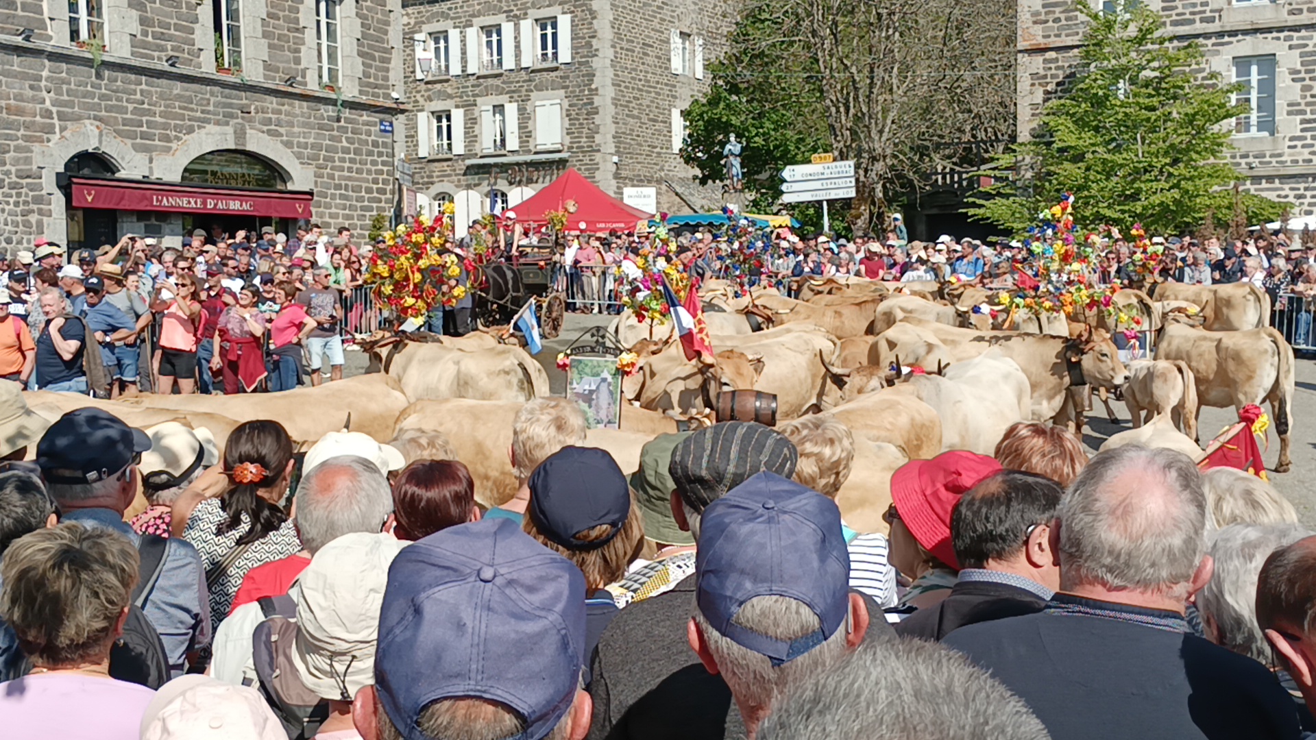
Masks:
[[[1280,204],[1230,192],[1238,174],[1225,159],[1229,121],[1248,112],[1238,86],[1202,74],[1196,42],[1161,33],[1161,16],[1137,0],[1115,12],[1078,4],[1088,28],[1067,88],[1048,101],[1026,141],[998,157],[995,184],[970,213],[1021,233],[1061,194],[1071,192],[1088,225],[1187,233],[1242,208],[1270,220]]]

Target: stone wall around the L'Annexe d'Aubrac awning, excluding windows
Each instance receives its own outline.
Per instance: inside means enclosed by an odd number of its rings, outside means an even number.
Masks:
[[[329,0],[340,26],[333,91],[322,90],[317,0],[228,0],[241,26],[233,74],[216,68],[217,1],[107,0],[99,65],[71,41],[79,21],[68,0],[8,3],[0,33],[34,33],[0,36],[0,248],[38,236],[67,242],[59,175],[86,153],[117,178],[179,182],[195,158],[238,150],[272,165],[290,190],[313,191],[315,220],[326,229],[362,229],[392,212],[400,149],[380,121],[400,121],[403,111],[393,97],[400,0]],[[118,212],[121,232],[166,244],[184,223],[183,213]]]

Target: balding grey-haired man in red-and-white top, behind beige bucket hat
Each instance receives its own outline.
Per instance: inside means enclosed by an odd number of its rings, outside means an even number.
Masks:
[[[253,682],[255,625],[274,614],[296,614],[288,587],[321,548],[353,532],[378,533],[391,523],[392,514],[388,481],[376,463],[363,457],[330,457],[307,473],[292,500],[292,520],[304,549],[253,568],[242,578],[233,612],[215,632],[211,675],[236,685]]]

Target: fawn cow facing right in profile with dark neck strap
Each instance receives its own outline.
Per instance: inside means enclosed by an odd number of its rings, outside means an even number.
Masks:
[[[950,365],[994,348],[1003,357],[1013,359],[1028,377],[1033,421],[1054,419],[1070,387],[1091,383],[1117,388],[1128,379],[1128,370],[1104,332],[1086,329],[1076,338],[979,332],[913,317],[900,321],[874,340],[869,363],[888,367],[899,357],[907,365]]]

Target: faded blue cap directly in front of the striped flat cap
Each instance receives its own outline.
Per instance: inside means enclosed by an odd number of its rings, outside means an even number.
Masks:
[[[772,665],[797,658],[834,635],[850,610],[841,510],[817,491],[759,473],[704,510],[695,574],[695,603],[709,627]],[[776,640],[734,624],[757,596],[803,602],[821,629]]]

